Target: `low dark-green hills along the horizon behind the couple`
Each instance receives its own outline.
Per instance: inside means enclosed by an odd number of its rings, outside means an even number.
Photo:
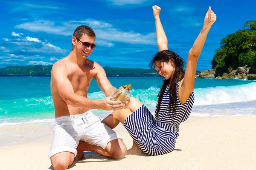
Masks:
[[[156,77],[156,70],[143,68],[103,67],[109,77]],[[0,76],[51,76],[52,65],[8,66],[0,68]],[[197,71],[196,74],[199,74]]]

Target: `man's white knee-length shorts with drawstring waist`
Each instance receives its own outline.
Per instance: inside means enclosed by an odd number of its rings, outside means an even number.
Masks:
[[[92,111],[55,118],[53,132],[49,158],[60,152],[71,152],[76,156],[76,148],[80,140],[105,149],[108,142],[122,139],[115,131],[102,123]]]

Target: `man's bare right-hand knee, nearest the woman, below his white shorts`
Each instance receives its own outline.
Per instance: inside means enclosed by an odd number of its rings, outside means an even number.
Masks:
[[[113,159],[122,159],[127,154],[127,147],[121,139],[111,141],[111,155]]]

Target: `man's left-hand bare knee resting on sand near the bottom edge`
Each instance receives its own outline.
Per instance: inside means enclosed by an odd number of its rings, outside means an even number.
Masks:
[[[74,161],[75,155],[73,153],[57,153],[51,157],[52,167],[55,170],[66,170]]]

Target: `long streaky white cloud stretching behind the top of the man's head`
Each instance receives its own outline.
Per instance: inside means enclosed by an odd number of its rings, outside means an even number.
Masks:
[[[47,32],[49,34],[58,34],[65,36],[72,36],[73,31],[76,27],[80,26],[80,22],[87,22],[89,26],[93,28],[96,33],[96,41],[105,40],[105,41],[116,41],[116,42],[125,42],[130,44],[154,44],[155,33],[140,34],[134,31],[121,31],[117,28],[113,28],[111,24],[104,23],[96,20],[85,20],[85,21],[70,21],[55,25],[53,21],[38,20],[32,23],[23,23],[15,26],[16,28],[22,28],[32,32]],[[102,24],[102,26],[100,26]],[[95,28],[93,27],[95,26]]]

